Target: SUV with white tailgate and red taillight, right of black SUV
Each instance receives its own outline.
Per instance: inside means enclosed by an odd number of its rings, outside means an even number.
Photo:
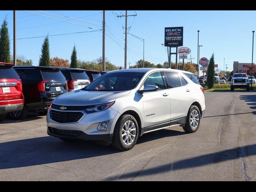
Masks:
[[[61,68],[60,71],[68,81],[68,91],[82,89],[90,84],[89,77],[83,69]]]

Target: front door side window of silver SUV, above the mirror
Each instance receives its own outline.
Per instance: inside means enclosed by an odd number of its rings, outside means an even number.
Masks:
[[[162,74],[160,71],[154,72],[150,74],[146,80],[144,81],[145,85],[155,85],[158,86],[158,90],[166,89],[167,87],[164,85],[164,80],[162,78]]]

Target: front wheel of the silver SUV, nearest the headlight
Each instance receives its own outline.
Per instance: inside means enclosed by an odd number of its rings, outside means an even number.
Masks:
[[[139,128],[136,119],[126,114],[116,122],[112,146],[118,150],[127,151],[134,147],[138,140]]]

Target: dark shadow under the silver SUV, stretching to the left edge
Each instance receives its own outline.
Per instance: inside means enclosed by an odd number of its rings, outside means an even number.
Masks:
[[[138,138],[138,144],[159,138],[178,136],[185,132],[175,130],[159,130]],[[112,146],[104,146],[94,142],[64,142],[52,136],[30,138],[0,143],[0,169],[27,167],[90,157],[120,153]]]

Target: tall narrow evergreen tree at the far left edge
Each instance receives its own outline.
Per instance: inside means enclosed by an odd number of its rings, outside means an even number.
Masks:
[[[0,29],[0,62],[10,63],[10,39],[7,24],[8,22],[4,18]]]

